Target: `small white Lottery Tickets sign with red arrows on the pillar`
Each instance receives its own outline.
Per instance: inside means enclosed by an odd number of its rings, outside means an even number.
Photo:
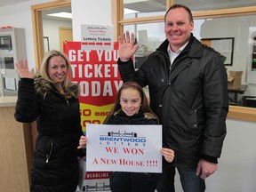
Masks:
[[[114,28],[113,26],[82,25],[81,49],[90,50],[113,50]]]

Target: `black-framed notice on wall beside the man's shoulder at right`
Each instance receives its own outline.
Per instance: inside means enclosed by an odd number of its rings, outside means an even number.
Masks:
[[[233,65],[233,54],[234,54],[234,37],[224,38],[203,38],[201,39],[202,44],[206,44],[212,47],[215,51],[220,52],[224,65]]]

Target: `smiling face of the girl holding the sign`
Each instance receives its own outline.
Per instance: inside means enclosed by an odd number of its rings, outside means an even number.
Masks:
[[[138,114],[141,105],[140,92],[132,88],[122,90],[120,105],[127,116]]]

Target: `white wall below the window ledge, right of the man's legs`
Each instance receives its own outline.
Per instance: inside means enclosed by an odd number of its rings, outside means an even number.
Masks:
[[[227,120],[218,171],[207,178],[207,192],[255,192],[256,123]],[[179,175],[176,175],[176,192],[182,192]]]

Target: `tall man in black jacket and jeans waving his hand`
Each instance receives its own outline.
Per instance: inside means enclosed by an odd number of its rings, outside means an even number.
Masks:
[[[173,4],[164,16],[166,40],[136,72],[131,58],[139,44],[128,31],[119,36],[122,79],[148,85],[150,107],[163,124],[164,147],[175,151],[174,163],[164,162],[157,192],[175,191],[175,167],[185,192],[204,191],[226,136],[226,69],[220,53],[202,45],[193,28],[188,7]]]

